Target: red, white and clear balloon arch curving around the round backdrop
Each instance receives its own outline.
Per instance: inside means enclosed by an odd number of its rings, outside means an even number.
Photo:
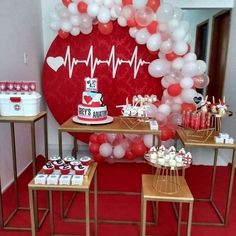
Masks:
[[[117,21],[121,27],[128,27],[137,44],[156,53],[158,57],[149,64],[148,73],[161,79],[164,91],[161,102],[151,107],[150,114],[159,122],[162,140],[166,141],[173,138],[182,110],[194,110],[203,101],[196,88],[205,88],[209,83],[206,63],[191,52],[189,23],[182,20],[182,14],[180,8],[160,4],[160,0],[62,0],[51,13],[50,27],[66,39],[70,34],[90,34],[94,25],[98,25],[101,34],[109,35]],[[102,145],[95,148],[96,152],[106,146],[104,137],[100,138]],[[114,137],[106,139],[109,138]],[[149,146],[147,140],[146,137]],[[104,147],[99,153],[109,156],[110,149]],[[117,150],[113,148],[113,152]],[[125,155],[121,150],[117,152],[117,157]]]

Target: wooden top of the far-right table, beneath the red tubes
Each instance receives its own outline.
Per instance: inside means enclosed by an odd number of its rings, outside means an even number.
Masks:
[[[212,134],[205,142],[189,141],[184,134],[183,128],[177,129],[177,135],[185,147],[207,147],[207,148],[229,148],[236,149],[236,144],[215,143],[214,134]]]

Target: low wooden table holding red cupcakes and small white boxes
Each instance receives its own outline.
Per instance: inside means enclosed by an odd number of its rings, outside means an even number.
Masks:
[[[53,191],[71,191],[71,192],[84,192],[85,194],[85,224],[86,224],[86,236],[90,234],[90,217],[89,217],[89,194],[90,185],[94,179],[94,225],[95,235],[97,235],[97,163],[91,163],[89,167],[89,173],[87,178],[84,178],[82,185],[49,185],[49,184],[35,184],[34,179],[28,184],[29,187],[29,199],[30,199],[30,217],[31,217],[31,229],[32,236],[36,235],[36,221],[37,221],[37,203],[35,201],[35,193],[38,190],[49,192],[49,211],[50,211],[50,235],[54,233],[54,220],[53,220]]]

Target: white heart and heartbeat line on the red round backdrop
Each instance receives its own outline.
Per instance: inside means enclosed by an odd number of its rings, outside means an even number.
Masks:
[[[138,59],[138,47],[136,46],[130,60],[124,60],[121,58],[116,58],[115,46],[113,45],[110,51],[110,56],[108,60],[100,60],[99,58],[94,58],[94,50],[93,46],[90,46],[88,56],[86,60],[78,60],[74,57],[71,57],[70,46],[67,46],[65,58],[63,57],[48,57],[47,58],[48,65],[54,70],[57,71],[62,65],[65,67],[68,66],[69,78],[72,77],[74,67],[78,64],[84,64],[86,66],[90,66],[90,76],[93,77],[97,66],[100,64],[107,64],[108,66],[112,66],[112,78],[116,77],[116,73],[118,67],[122,64],[128,64],[133,67],[134,79],[137,77],[138,71],[141,66],[148,65],[150,62]]]

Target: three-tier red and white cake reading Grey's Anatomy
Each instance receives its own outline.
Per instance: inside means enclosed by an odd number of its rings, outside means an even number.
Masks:
[[[103,95],[98,92],[97,79],[85,78],[82,104],[78,105],[78,119],[83,121],[103,121],[107,119],[107,106]]]

